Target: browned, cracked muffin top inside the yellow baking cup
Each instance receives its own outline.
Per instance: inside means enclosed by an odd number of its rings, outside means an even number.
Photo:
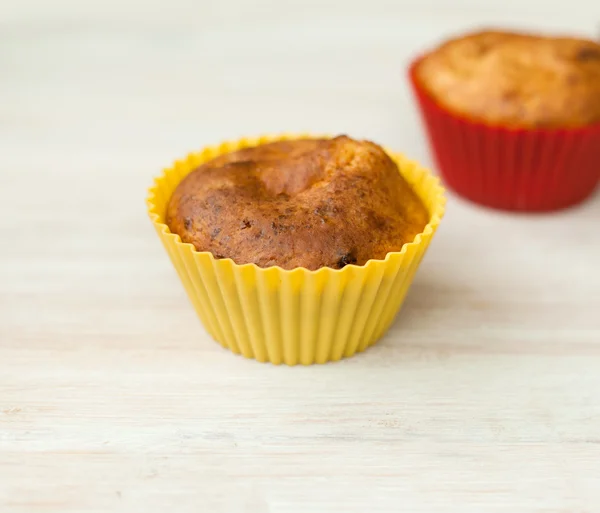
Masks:
[[[178,185],[166,215],[171,231],[198,251],[310,270],[383,259],[428,219],[388,155],[345,136],[217,157]]]

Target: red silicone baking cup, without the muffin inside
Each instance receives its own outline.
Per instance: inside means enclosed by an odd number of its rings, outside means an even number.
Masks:
[[[569,207],[600,181],[600,123],[573,129],[488,125],[452,113],[410,81],[438,168],[457,194],[482,205],[519,211]]]

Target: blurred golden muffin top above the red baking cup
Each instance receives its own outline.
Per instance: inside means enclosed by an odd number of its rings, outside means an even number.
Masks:
[[[600,122],[600,44],[484,31],[452,39],[416,67],[438,103],[492,124],[560,128]]]

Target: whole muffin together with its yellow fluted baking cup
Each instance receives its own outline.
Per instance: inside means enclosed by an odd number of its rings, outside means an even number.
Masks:
[[[149,214],[209,334],[311,364],[376,342],[441,220],[443,190],[376,144],[262,137],[166,169]]]

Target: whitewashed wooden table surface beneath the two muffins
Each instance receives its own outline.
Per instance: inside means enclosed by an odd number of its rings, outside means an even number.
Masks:
[[[412,54],[479,22],[592,34],[597,2],[8,3],[2,513],[600,511],[600,196],[451,197],[388,336],[308,368],[210,341],[144,205],[161,166],[240,135],[431,164]]]

